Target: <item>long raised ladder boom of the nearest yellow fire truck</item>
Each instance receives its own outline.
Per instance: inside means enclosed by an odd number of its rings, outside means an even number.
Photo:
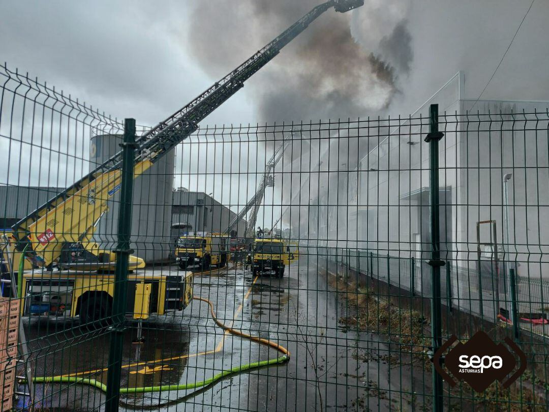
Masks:
[[[144,133],[136,141],[134,176],[143,174],[166,152],[196,131],[201,120],[240,90],[244,81],[270,62],[326,10],[334,7],[337,12],[344,13],[363,3],[363,0],[330,0],[317,5],[182,109]],[[94,267],[100,268],[102,264],[112,266],[114,254],[99,250],[91,242],[91,236],[98,219],[107,210],[108,199],[119,190],[120,181],[121,152],[18,221],[12,227],[16,251],[24,253],[34,265],[51,269],[67,250],[67,244],[83,244],[85,253],[97,259]],[[142,262],[134,260],[133,263],[135,268]]]

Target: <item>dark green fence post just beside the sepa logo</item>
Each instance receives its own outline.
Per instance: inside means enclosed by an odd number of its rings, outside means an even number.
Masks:
[[[429,108],[429,133],[425,142],[429,143],[429,196],[431,220],[431,333],[433,354],[442,346],[442,319],[440,298],[440,215],[439,215],[439,140],[444,133],[439,132],[439,105]],[[433,368],[433,411],[442,411],[442,376]]]

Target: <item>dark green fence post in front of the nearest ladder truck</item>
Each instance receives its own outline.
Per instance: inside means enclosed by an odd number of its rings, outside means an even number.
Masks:
[[[118,214],[118,244],[114,273],[113,325],[110,333],[109,370],[107,372],[107,412],[116,412],[120,398],[120,371],[122,346],[124,345],[124,320],[128,281],[128,260],[130,258],[130,233],[132,221],[133,162],[135,160],[135,119],[124,121],[124,143],[122,146],[122,176],[120,188],[120,210]]]

